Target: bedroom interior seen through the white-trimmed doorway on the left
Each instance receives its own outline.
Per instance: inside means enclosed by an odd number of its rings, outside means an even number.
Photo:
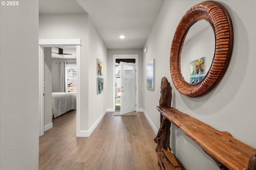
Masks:
[[[44,94],[44,117],[50,122],[46,131],[52,127],[51,118],[76,109],[76,47],[44,49]]]

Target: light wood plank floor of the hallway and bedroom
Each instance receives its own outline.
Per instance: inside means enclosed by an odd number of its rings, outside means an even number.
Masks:
[[[52,121],[39,138],[40,170],[160,170],[156,135],[142,112],[108,112],[90,137],[76,137],[76,110]]]

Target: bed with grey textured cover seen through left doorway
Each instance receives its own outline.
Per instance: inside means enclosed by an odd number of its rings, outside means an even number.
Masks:
[[[56,118],[76,109],[76,93],[52,93],[52,117]]]

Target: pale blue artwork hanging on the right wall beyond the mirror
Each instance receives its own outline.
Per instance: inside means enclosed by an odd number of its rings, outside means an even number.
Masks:
[[[154,89],[154,65],[155,59],[152,59],[146,66],[146,87]]]

